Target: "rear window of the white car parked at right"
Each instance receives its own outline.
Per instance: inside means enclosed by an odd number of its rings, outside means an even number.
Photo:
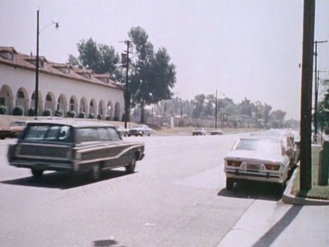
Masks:
[[[281,153],[280,143],[272,140],[241,139],[233,150],[260,151],[264,153]]]

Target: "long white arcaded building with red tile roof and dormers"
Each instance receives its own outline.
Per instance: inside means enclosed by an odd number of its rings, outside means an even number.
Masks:
[[[13,47],[0,47],[0,105],[7,114],[16,106],[27,115],[34,108],[34,56],[17,52]],[[97,117],[111,116],[121,120],[124,113],[123,87],[107,74],[95,74],[91,69],[77,69],[70,64],[53,63],[40,57],[39,62],[39,115],[50,109],[52,115],[62,110],[66,116],[75,111]]]

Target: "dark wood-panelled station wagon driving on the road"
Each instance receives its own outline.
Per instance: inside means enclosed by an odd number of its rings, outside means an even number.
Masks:
[[[29,168],[36,178],[51,170],[87,172],[93,180],[105,169],[134,172],[143,156],[144,144],[124,142],[114,126],[74,119],[27,123],[7,154],[11,166]]]

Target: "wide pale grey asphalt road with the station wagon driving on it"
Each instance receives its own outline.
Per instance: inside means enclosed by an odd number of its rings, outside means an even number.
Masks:
[[[282,206],[272,186],[225,189],[223,158],[239,134],[125,137],[145,142],[136,172],[82,175],[8,165],[0,141],[0,246],[217,246],[255,202]],[[244,246],[243,242],[241,246]]]

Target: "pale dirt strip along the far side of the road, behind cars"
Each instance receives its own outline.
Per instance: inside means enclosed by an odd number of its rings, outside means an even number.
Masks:
[[[9,123],[17,120],[33,120],[33,117],[28,116],[11,116],[11,115],[0,115],[0,126],[9,126]],[[85,119],[89,121],[99,121],[97,119]],[[106,121],[111,125],[119,125],[124,126],[124,122],[118,121]],[[132,128],[136,123],[128,122],[127,128]],[[170,135],[192,135],[192,131],[194,127],[175,127],[175,128],[167,128],[167,127],[159,127],[154,125],[149,125],[150,128],[153,129],[153,134],[155,136],[170,136]],[[213,128],[206,128],[208,134]],[[253,131],[253,129],[223,129],[224,134],[234,133],[234,132],[248,132]]]

